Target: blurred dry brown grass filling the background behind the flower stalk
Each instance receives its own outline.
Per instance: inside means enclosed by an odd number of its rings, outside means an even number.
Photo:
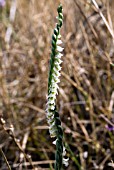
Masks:
[[[10,23],[10,2],[0,8],[0,116],[6,121],[0,125],[0,169],[8,169],[8,164],[15,170],[53,169],[55,147],[48,132],[45,104],[59,0],[17,0],[8,45],[4,39]],[[114,1],[97,2],[113,30]],[[85,0],[61,3],[65,49],[57,103],[70,158],[65,169],[111,170],[113,38],[94,5]]]

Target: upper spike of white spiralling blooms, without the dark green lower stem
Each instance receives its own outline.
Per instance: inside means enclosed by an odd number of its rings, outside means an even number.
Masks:
[[[60,46],[62,44],[62,41],[60,40],[60,28],[63,23],[63,14],[62,14],[62,5],[60,5],[57,9],[58,11],[58,23],[56,24],[56,28],[54,29],[53,35],[52,35],[52,50],[51,50],[51,59],[50,59],[50,71],[49,71],[49,80],[48,80],[48,102],[47,102],[47,119],[49,122],[49,126],[52,128],[55,128],[54,123],[53,126],[51,122],[55,122],[54,117],[52,116],[53,110],[56,106],[56,96],[57,96],[57,90],[58,90],[58,83],[60,82],[60,70],[62,63],[61,57],[63,48]],[[52,119],[52,120],[49,120]],[[56,130],[50,130],[50,136],[56,137]],[[54,133],[54,134],[52,134]]]

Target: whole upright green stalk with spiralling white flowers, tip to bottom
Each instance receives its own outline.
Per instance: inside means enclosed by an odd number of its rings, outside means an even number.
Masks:
[[[60,82],[60,70],[62,63],[61,57],[63,54],[60,28],[63,24],[62,5],[59,5],[58,9],[58,23],[54,29],[52,35],[52,49],[50,57],[50,70],[48,79],[48,102],[47,102],[47,121],[49,124],[49,132],[51,137],[55,137],[56,140],[53,142],[56,145],[55,154],[55,170],[60,170],[62,164],[68,165],[68,159],[65,159],[66,154],[65,147],[63,146],[63,130],[61,127],[61,120],[59,113],[56,109],[56,96],[58,94],[58,83]]]

